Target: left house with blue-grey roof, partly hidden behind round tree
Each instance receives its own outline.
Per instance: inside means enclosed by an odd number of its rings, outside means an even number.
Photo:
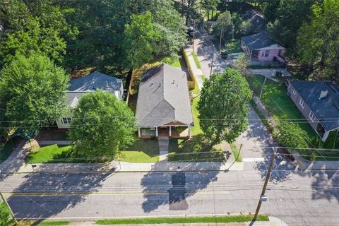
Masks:
[[[82,95],[93,92],[95,90],[103,90],[115,95],[122,100],[124,88],[121,79],[107,76],[100,72],[90,73],[82,78],[75,78],[70,81],[69,90],[66,91],[68,96],[69,111],[57,120],[59,129],[69,128],[73,120],[73,109],[78,105],[78,101]]]

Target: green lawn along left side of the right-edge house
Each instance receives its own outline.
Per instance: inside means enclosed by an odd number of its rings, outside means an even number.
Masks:
[[[249,85],[254,91],[254,94],[257,96],[260,95],[261,85],[263,84],[264,77],[260,75],[250,76],[248,78]],[[303,119],[304,117],[299,112],[299,109],[295,107],[295,104],[292,102],[290,97],[287,96],[287,90],[283,84],[282,78],[278,79],[278,82],[271,81],[266,79],[266,84],[264,86],[263,95],[261,96],[261,101],[265,105],[266,109],[272,116],[278,118],[283,118],[287,116],[289,119]],[[299,126],[307,131],[307,134],[310,138],[316,136],[314,130],[307,123],[301,123]]]

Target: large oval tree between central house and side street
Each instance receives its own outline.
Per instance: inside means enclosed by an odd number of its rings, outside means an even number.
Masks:
[[[215,73],[203,83],[199,119],[203,133],[213,144],[231,143],[246,130],[251,96],[246,79],[234,69]]]

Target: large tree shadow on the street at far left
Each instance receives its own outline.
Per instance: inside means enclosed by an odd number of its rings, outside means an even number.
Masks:
[[[16,195],[10,196],[8,203],[18,218],[52,218],[85,201],[87,193],[100,189],[102,182],[111,174],[112,172],[28,174],[25,176],[25,182],[14,189]],[[78,192],[81,194],[76,194]],[[32,193],[39,194],[32,195]],[[40,221],[42,220],[37,220]]]

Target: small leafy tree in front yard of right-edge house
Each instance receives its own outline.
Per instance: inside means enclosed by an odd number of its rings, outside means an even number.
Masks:
[[[293,148],[309,147],[309,137],[306,131],[301,129],[298,124],[288,120],[275,120],[278,123],[278,132],[275,133],[275,137],[278,143],[286,147],[290,153],[299,151]]]

